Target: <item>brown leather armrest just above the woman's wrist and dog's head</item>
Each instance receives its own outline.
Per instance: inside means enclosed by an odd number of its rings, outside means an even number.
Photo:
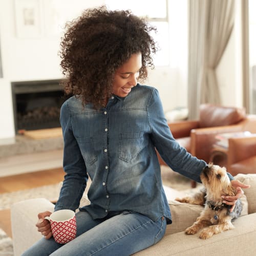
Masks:
[[[190,133],[191,154],[208,162],[212,146],[217,142],[217,134],[239,132],[242,129],[240,124],[193,129]]]

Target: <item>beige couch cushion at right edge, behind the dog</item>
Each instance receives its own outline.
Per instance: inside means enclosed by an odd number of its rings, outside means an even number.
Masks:
[[[251,185],[250,188],[243,189],[248,201],[248,214],[256,212],[256,174],[238,174],[234,179],[240,180],[245,184]]]

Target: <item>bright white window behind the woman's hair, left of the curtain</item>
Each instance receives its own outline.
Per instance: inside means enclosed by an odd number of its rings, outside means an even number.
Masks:
[[[157,27],[152,34],[159,51],[154,56],[155,66],[187,67],[187,0],[105,0],[111,10],[130,9],[135,15],[147,16]]]

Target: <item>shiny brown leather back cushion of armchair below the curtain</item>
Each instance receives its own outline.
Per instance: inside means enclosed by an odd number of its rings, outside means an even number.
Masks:
[[[200,105],[200,127],[214,127],[236,124],[245,119],[244,108],[218,106],[211,104]]]

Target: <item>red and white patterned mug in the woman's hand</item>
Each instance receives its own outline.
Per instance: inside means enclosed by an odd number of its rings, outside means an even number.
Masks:
[[[57,210],[49,217],[54,240],[66,244],[76,238],[76,216],[73,210]]]

